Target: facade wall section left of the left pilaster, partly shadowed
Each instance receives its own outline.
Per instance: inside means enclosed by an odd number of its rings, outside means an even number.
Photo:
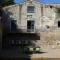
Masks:
[[[7,25],[11,29],[11,21],[16,21],[17,28],[20,24],[20,6],[19,5],[13,5],[3,8],[4,12],[6,14],[7,18]]]

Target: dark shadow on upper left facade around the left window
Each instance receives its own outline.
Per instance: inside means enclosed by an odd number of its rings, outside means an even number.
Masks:
[[[4,20],[3,20],[3,32],[6,33],[22,33],[23,31],[21,29],[18,29],[17,27],[17,20],[14,20],[14,18],[10,17],[13,16],[12,12],[9,12],[8,10],[4,11]]]

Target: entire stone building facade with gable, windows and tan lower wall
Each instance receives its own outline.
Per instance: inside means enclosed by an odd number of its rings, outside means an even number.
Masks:
[[[34,0],[25,0],[21,4],[3,8],[7,16],[5,25],[9,28],[8,32],[37,34],[40,36],[40,39],[34,42],[37,46],[59,48],[59,8],[60,4],[42,4]]]

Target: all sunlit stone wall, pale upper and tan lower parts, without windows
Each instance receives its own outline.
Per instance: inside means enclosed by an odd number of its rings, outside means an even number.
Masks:
[[[27,6],[35,6],[34,13],[27,13]],[[58,20],[56,18],[55,7],[50,8],[50,5],[38,4],[36,2],[25,2],[21,5],[13,5],[4,8],[5,12],[9,15],[10,20],[17,21],[18,29],[27,30],[28,15],[32,15],[32,20],[35,21],[35,29],[39,29],[40,40],[35,42],[36,45],[41,47],[57,48],[60,43],[56,43],[60,40],[59,31],[56,30]],[[9,20],[8,19],[8,20]]]

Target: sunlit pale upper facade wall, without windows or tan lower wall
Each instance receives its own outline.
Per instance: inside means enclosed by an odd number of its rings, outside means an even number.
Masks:
[[[34,13],[27,13],[27,6],[34,6]],[[16,20],[18,29],[27,29],[27,20],[35,21],[35,29],[47,29],[47,26],[54,27],[55,23],[55,8],[50,8],[50,5],[42,5],[36,2],[26,2],[22,5],[13,5],[4,8],[10,20]],[[32,15],[32,18],[28,18]],[[40,32],[40,31],[39,31]]]

